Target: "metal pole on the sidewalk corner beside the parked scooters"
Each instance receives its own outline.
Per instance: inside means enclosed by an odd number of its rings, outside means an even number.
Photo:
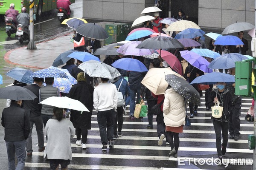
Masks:
[[[29,44],[27,46],[28,50],[36,50],[35,42],[34,42],[34,0],[29,0],[29,15],[30,15],[30,37]]]

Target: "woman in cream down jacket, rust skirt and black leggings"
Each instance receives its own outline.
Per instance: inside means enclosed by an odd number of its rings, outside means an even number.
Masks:
[[[183,132],[185,125],[186,109],[183,97],[170,86],[166,89],[163,102],[163,121],[166,124],[166,136],[170,142],[169,156],[178,156],[180,145],[179,133]]]

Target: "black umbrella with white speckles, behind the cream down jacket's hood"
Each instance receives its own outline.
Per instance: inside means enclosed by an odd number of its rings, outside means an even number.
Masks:
[[[192,85],[189,84],[189,82],[180,77],[177,77],[174,74],[166,75],[165,80],[172,88],[174,88],[178,94],[183,96],[187,101],[200,106],[200,94]]]

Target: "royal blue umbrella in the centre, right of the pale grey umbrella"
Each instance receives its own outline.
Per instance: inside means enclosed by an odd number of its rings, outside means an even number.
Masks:
[[[132,58],[122,58],[118,59],[113,64],[111,64],[114,68],[121,68],[127,71],[138,71],[144,72],[148,71],[145,65],[137,59]]]

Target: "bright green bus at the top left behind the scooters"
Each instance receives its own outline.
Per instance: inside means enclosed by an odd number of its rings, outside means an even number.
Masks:
[[[43,12],[50,11],[57,8],[57,0],[34,0],[34,14],[36,14],[37,19],[39,19]],[[71,3],[75,3],[75,0],[70,0]],[[20,13],[22,7],[27,8],[27,13],[29,13],[29,0],[0,0],[0,14],[5,14],[9,9],[10,4],[15,4],[15,9]]]

